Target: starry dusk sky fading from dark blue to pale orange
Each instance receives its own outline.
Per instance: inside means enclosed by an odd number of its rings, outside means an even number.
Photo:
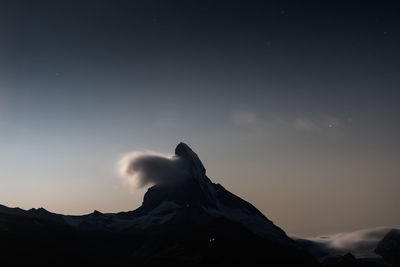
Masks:
[[[0,204],[135,209],[184,141],[288,233],[400,226],[400,9],[261,2],[1,1]]]

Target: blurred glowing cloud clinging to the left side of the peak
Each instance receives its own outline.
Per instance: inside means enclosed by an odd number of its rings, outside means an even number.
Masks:
[[[189,176],[184,159],[151,151],[124,155],[119,161],[119,172],[129,185],[136,188],[170,183]]]

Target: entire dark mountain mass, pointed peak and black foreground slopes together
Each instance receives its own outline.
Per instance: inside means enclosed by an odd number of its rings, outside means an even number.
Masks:
[[[253,205],[214,184],[189,146],[180,143],[175,154],[188,176],[150,187],[133,211],[67,216],[0,206],[1,266],[321,266]]]

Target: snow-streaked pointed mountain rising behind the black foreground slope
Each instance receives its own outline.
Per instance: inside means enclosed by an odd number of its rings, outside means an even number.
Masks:
[[[117,214],[95,211],[84,216],[64,216],[65,222],[81,230],[127,232],[155,230],[162,226],[166,229],[188,227],[225,217],[262,237],[293,244],[284,231],[253,205],[225,190],[223,186],[212,183],[199,157],[189,146],[180,143],[175,154],[188,163],[189,179],[149,188],[142,206],[134,211]]]

